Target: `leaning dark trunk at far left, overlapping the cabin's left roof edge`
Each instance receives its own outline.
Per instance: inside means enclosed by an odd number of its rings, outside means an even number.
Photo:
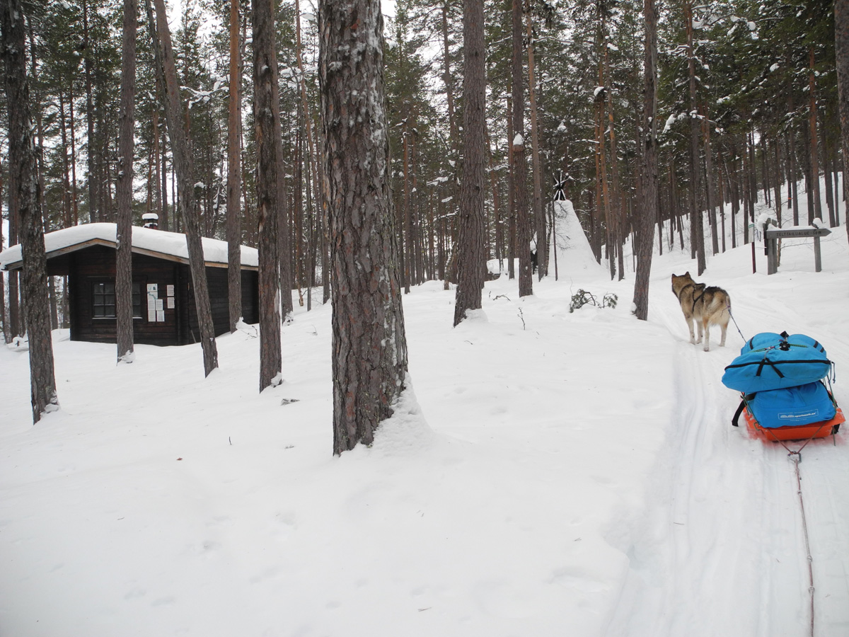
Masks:
[[[32,138],[24,42],[24,12],[20,0],[3,0],[0,3],[0,54],[4,61],[8,110],[8,164],[11,183],[18,190],[22,291],[30,348],[32,422],[35,424],[41,420],[42,414],[59,409],[59,400],[53,372],[42,192],[38,185],[36,146]]]

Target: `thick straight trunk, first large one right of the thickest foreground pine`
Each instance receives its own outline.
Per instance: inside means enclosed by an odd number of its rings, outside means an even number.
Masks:
[[[463,178],[460,182],[457,295],[454,326],[481,308],[486,269],[486,42],[483,0],[463,5]]]

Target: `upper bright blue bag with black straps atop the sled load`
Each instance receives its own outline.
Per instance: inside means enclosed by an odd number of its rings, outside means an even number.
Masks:
[[[722,384],[744,394],[807,385],[829,375],[832,362],[810,336],[762,332],[725,368]]]

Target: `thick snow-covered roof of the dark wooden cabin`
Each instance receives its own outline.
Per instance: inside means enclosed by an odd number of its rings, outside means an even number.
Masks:
[[[108,245],[117,248],[115,223],[85,223],[82,226],[55,230],[44,235],[44,249],[48,259],[89,245]],[[227,241],[203,237],[204,261],[212,268],[227,267]],[[256,269],[259,253],[256,248],[242,245],[242,268]],[[188,263],[186,235],[152,228],[132,227],[132,251],[156,256],[160,259]],[[21,266],[20,245],[12,245],[0,252],[0,269],[12,270]]]

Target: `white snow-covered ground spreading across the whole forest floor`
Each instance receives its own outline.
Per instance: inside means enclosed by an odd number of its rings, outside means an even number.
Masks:
[[[413,288],[414,396],[340,457],[329,307],[296,307],[285,381],[262,394],[250,326],[218,339],[208,379],[200,347],[115,366],[114,345],[54,332],[62,409],[37,426],[26,353],[0,348],[0,634],[809,634],[794,466],[730,425],[734,324],[727,347],[717,328],[711,352],[688,342],[670,275],[695,273],[689,247],[655,255],[642,322],[633,274],[611,282],[570,240],[558,281],[523,299],[487,283],[456,329],[453,290]],[[773,276],[762,242],[754,274],[751,255],[709,256],[700,280],[745,337],[824,343],[849,406],[846,228],[822,273],[811,240],[785,241]],[[619,303],[570,313],[578,289]],[[802,457],[816,634],[842,637],[846,434]]]

